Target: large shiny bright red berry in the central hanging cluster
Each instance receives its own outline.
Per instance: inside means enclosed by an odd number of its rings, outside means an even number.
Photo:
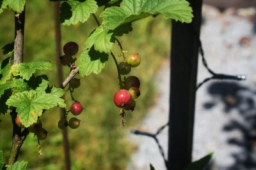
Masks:
[[[127,103],[129,103],[132,99],[132,96],[128,90],[121,89],[116,92],[114,96],[114,103],[119,108],[124,107]]]

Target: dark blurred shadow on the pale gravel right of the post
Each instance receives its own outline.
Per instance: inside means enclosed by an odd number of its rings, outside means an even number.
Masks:
[[[238,111],[241,118],[229,120],[223,131],[239,131],[242,138],[229,138],[227,143],[241,149],[239,153],[230,153],[235,163],[225,170],[256,169],[256,90],[231,81],[220,81],[209,85],[207,92],[212,101],[204,103],[205,109],[211,109],[217,103],[224,103],[223,114]],[[207,169],[214,169],[214,162]],[[222,169],[224,170],[224,169]]]

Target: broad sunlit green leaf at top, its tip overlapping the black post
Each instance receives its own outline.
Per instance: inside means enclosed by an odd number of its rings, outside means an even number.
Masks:
[[[166,18],[191,22],[192,8],[186,0],[124,0],[120,7],[106,8],[100,17],[104,29],[115,29],[119,25],[150,15],[163,14]]]

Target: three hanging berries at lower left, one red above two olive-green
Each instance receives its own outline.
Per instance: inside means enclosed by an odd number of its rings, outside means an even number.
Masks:
[[[82,111],[83,111],[83,106],[79,102],[73,103],[70,107],[70,112],[75,116],[80,115]],[[77,127],[79,127],[80,125],[80,122],[81,120],[79,120],[76,117],[72,117],[69,120],[67,120],[67,117],[63,117],[59,120],[58,127],[60,129],[65,129],[69,126],[72,129],[77,129]]]

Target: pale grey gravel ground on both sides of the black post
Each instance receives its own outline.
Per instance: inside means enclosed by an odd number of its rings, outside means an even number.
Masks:
[[[228,9],[220,13],[211,6],[203,8],[201,39],[209,67],[216,73],[246,75],[246,81],[207,82],[196,94],[193,160],[214,152],[209,166],[212,170],[256,169],[256,36],[253,12],[254,9]],[[159,99],[141,121],[141,131],[154,133],[168,122],[169,74],[169,66],[165,64],[156,77]],[[198,82],[208,76],[211,74],[200,60]],[[158,136],[165,152],[167,134],[168,128]],[[128,138],[138,148],[128,169],[149,169],[149,163],[157,170],[166,169],[154,139],[134,134],[129,134]]]

